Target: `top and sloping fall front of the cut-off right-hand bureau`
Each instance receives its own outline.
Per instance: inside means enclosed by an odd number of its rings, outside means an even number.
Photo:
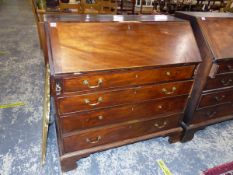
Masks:
[[[233,14],[177,12],[177,16],[197,20],[214,59],[233,58]]]

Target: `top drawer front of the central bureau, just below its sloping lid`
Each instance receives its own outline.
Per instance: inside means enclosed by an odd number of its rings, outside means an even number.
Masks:
[[[191,79],[195,65],[149,70],[88,73],[62,80],[62,93]]]

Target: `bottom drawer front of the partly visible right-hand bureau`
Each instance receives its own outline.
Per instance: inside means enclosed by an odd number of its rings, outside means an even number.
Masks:
[[[192,123],[200,123],[211,119],[225,117],[233,114],[233,104],[222,104],[219,106],[203,108],[197,110],[194,114]]]

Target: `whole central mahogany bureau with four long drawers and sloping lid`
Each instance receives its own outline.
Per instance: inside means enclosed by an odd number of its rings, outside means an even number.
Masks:
[[[189,22],[87,15],[50,20],[46,35],[63,171],[97,151],[158,136],[180,139],[201,61]]]

